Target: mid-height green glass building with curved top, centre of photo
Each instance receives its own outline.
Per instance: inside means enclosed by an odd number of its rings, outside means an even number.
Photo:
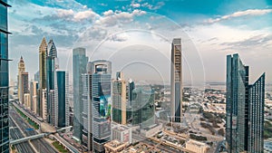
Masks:
[[[155,124],[154,91],[147,86],[140,86],[132,91],[132,125],[145,129]]]

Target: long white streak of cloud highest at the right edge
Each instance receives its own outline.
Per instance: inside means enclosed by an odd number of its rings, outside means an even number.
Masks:
[[[272,9],[248,9],[246,11],[238,11],[236,13],[224,15],[215,19],[209,18],[208,20],[204,22],[204,24],[214,24],[224,20],[229,20],[231,18],[236,18],[241,16],[257,16],[257,15],[263,15],[263,14],[269,14],[269,13],[272,13]]]

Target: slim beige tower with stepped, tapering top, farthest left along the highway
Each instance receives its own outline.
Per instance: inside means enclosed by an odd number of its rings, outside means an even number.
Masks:
[[[18,99],[20,103],[24,103],[24,91],[23,91],[23,83],[22,83],[22,73],[25,71],[24,59],[21,56],[20,62],[18,62]]]

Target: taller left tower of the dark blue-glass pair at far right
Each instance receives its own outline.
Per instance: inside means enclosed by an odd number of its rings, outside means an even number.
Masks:
[[[227,56],[227,127],[226,139],[230,152],[247,148],[246,107],[248,105],[248,66],[238,54]],[[239,93],[239,94],[238,94]]]

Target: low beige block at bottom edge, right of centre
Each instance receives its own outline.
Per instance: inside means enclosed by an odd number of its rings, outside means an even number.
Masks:
[[[207,144],[192,139],[189,139],[185,146],[186,149],[195,153],[207,153],[209,150]]]

